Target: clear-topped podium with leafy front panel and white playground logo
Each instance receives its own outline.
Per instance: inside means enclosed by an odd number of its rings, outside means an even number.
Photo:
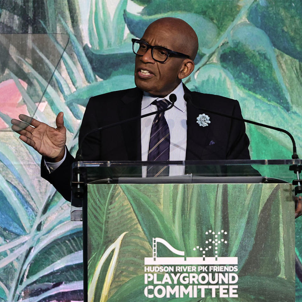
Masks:
[[[73,164],[84,301],[294,301],[299,159],[159,162],[183,174],[142,177],[148,165]]]

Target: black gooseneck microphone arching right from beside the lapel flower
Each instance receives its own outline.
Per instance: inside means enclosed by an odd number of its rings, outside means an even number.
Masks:
[[[189,93],[185,93],[185,95],[183,96],[183,98],[185,99],[186,102],[189,102],[196,109],[204,110],[206,112],[210,112],[210,113],[213,113],[213,114],[216,114],[216,115],[225,116],[225,117],[228,117],[230,119],[240,120],[240,121],[243,121],[243,122],[247,122],[249,124],[254,124],[254,125],[257,125],[257,126],[261,126],[261,127],[265,127],[265,128],[270,128],[270,129],[273,129],[273,130],[276,130],[276,131],[280,131],[280,132],[286,133],[290,137],[290,139],[291,139],[291,141],[293,143],[293,155],[292,155],[292,159],[299,159],[299,156],[297,154],[297,148],[296,148],[296,143],[295,143],[294,137],[287,130],[284,130],[284,129],[278,128],[278,127],[273,127],[273,126],[266,125],[266,124],[262,124],[262,123],[258,123],[258,122],[254,122],[253,120],[246,120],[246,119],[243,119],[243,118],[240,118],[240,117],[237,117],[237,116],[228,115],[228,114],[217,112],[217,111],[210,110],[210,109],[207,109],[207,108],[199,107],[199,106],[197,106],[197,105],[195,105],[193,103],[191,95]]]

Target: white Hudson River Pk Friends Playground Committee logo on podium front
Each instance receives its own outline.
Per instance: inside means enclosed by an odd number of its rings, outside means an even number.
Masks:
[[[202,256],[185,257],[163,238],[153,238],[152,257],[145,257],[144,294],[147,298],[204,298],[207,296],[237,298],[238,257],[218,257],[219,247],[227,244],[227,232],[205,232],[203,246],[193,251]],[[159,257],[158,244],[163,244],[174,257]],[[159,274],[158,274],[159,273]],[[185,285],[184,285],[185,284]]]

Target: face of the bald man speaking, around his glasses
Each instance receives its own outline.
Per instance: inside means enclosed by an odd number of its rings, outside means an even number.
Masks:
[[[163,46],[183,53],[181,35],[160,24],[151,25],[145,31],[142,39],[149,45]],[[135,85],[143,91],[158,96],[166,96],[180,83],[178,73],[181,70],[184,58],[168,57],[165,63],[154,61],[151,50],[143,56],[135,58]]]

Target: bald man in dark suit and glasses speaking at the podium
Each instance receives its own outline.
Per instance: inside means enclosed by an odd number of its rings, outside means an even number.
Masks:
[[[182,79],[194,70],[193,60],[198,51],[198,38],[190,25],[177,18],[162,18],[151,23],[143,37],[132,39],[132,43],[136,54],[136,87],[90,98],[79,141],[92,129],[156,111],[158,103],[169,103],[169,96],[174,93],[177,97],[174,107],[165,112],[164,119],[161,118],[164,129],[169,132],[165,135],[169,137],[165,148],[169,160],[250,158],[243,122],[207,114],[184,100],[184,93],[188,93],[193,103],[200,107],[241,117],[237,101],[191,92],[182,84]],[[203,114],[209,116],[207,126],[197,120]],[[70,165],[74,158],[65,147],[63,113],[57,116],[57,128],[25,115],[19,118],[28,124],[13,119],[12,129],[20,134],[22,141],[42,154],[42,177],[70,200]],[[85,139],[83,159],[150,160],[149,148],[154,137],[156,139],[156,134],[152,134],[153,124],[154,115],[95,132]],[[155,145],[158,145],[156,140]],[[175,168],[169,173],[185,172]]]

